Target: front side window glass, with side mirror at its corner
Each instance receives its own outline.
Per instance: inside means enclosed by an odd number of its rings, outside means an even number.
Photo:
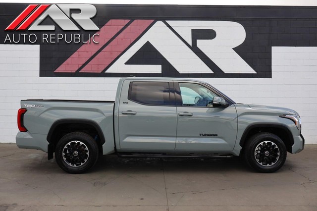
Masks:
[[[213,97],[217,96],[200,84],[179,83],[179,88],[183,106],[212,106]]]

